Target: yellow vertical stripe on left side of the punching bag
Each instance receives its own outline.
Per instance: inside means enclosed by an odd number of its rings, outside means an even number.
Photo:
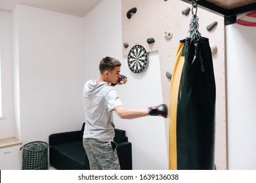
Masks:
[[[184,42],[179,43],[179,48],[176,54],[176,63],[171,76],[171,93],[170,93],[170,107],[169,107],[169,169],[177,170],[177,102],[179,95],[179,88],[181,82],[181,74],[184,65],[184,56],[182,50]]]

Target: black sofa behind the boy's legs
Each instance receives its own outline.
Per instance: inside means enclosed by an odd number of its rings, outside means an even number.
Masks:
[[[54,133],[49,136],[50,165],[60,170],[89,170],[89,160],[83,148],[83,123],[79,131]],[[114,141],[117,143],[117,155],[121,170],[131,170],[131,142],[125,136],[125,131],[115,129]]]

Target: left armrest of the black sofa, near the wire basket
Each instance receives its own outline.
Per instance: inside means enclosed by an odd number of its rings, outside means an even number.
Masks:
[[[63,133],[54,133],[49,136],[49,145],[54,146],[56,144],[77,141],[80,140],[79,137],[81,135],[81,131],[68,131]]]

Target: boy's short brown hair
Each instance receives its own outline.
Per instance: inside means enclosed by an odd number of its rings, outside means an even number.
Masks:
[[[104,73],[104,71],[108,69],[113,71],[115,67],[118,66],[121,66],[121,62],[119,60],[110,57],[102,58],[99,65],[100,74]]]

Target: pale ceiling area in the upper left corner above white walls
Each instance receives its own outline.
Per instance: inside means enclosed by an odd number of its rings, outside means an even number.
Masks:
[[[17,4],[84,17],[102,0],[0,0],[0,9],[12,11]]]

